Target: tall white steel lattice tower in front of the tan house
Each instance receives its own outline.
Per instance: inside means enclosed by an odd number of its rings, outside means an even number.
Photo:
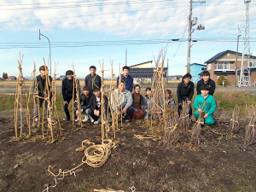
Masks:
[[[246,21],[244,27],[243,45],[242,45],[242,57],[241,57],[241,73],[239,86],[251,85],[250,79],[250,38],[249,38],[249,3],[251,0],[244,0],[246,3]]]

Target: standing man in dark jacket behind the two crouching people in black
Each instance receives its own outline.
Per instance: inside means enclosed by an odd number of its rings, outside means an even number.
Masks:
[[[85,85],[90,87],[90,91],[98,89],[101,90],[102,78],[96,74],[96,67],[90,66],[90,74],[85,77]]]

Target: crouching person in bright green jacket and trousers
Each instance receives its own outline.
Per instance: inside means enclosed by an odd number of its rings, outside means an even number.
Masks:
[[[214,97],[209,95],[210,87],[207,84],[201,85],[201,95],[195,96],[193,107],[195,108],[195,119],[198,119],[200,113],[203,113],[205,125],[214,124],[212,113],[216,109]]]

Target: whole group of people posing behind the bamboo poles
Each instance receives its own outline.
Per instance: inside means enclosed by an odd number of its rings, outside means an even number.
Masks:
[[[38,101],[36,102],[35,120],[38,120],[38,110],[45,103],[45,107],[48,105],[45,101],[46,88],[51,89],[52,78],[47,76],[47,67],[39,67],[40,75],[35,79],[35,90],[38,91]],[[84,115],[84,122],[90,121],[94,124],[101,122],[101,105],[104,105],[104,113],[107,115],[109,111],[116,113],[120,118],[123,118],[125,122],[130,122],[135,119],[148,119],[153,110],[153,96],[151,95],[151,88],[146,89],[146,95],[140,94],[141,87],[139,84],[133,85],[133,78],[129,74],[130,68],[123,67],[123,73],[117,79],[117,89],[113,90],[110,95],[110,102],[108,97],[101,93],[102,79],[96,74],[96,67],[90,66],[90,74],[85,77],[85,85],[83,92],[80,94],[79,80],[76,79],[74,84],[73,71],[68,70],[66,72],[66,78],[62,80],[61,92],[63,96],[63,108],[66,113],[66,118],[63,120],[70,120],[71,116],[68,111],[68,105],[71,101],[74,102],[74,120],[77,120],[79,114]],[[49,79],[46,81],[46,77]],[[177,112],[180,115],[183,108],[183,103],[187,102],[189,106],[189,117],[192,115],[191,101],[194,95],[194,83],[191,81],[191,75],[189,73],[183,76],[183,80],[177,85]],[[46,82],[48,84],[46,84]],[[133,93],[131,93],[133,90]],[[214,120],[212,113],[216,108],[216,104],[213,98],[215,90],[215,83],[210,79],[210,73],[204,71],[202,73],[202,79],[197,83],[195,102],[193,107],[195,108],[195,118],[197,119],[199,114],[203,114],[205,123],[212,125]],[[50,92],[50,91],[49,91]],[[102,101],[103,99],[103,101]],[[172,97],[172,91],[166,90],[165,98],[166,108],[175,108],[175,100]],[[162,105],[161,101],[160,105]],[[39,106],[38,106],[39,105]],[[80,108],[78,108],[80,106]],[[80,110],[80,111],[79,111]],[[47,110],[48,113],[48,110]],[[48,113],[49,115],[49,113]]]

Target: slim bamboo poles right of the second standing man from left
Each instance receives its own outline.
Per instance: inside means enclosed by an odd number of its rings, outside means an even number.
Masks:
[[[76,90],[76,98],[74,99],[74,90]],[[77,108],[79,110],[79,117],[77,117],[77,119],[79,120],[80,126],[82,127],[82,113],[81,113],[81,103],[80,103],[80,84],[79,84],[79,79],[77,78],[77,75],[75,73],[75,66],[73,63],[73,109],[72,109],[72,113],[74,115],[74,102],[77,103]]]

